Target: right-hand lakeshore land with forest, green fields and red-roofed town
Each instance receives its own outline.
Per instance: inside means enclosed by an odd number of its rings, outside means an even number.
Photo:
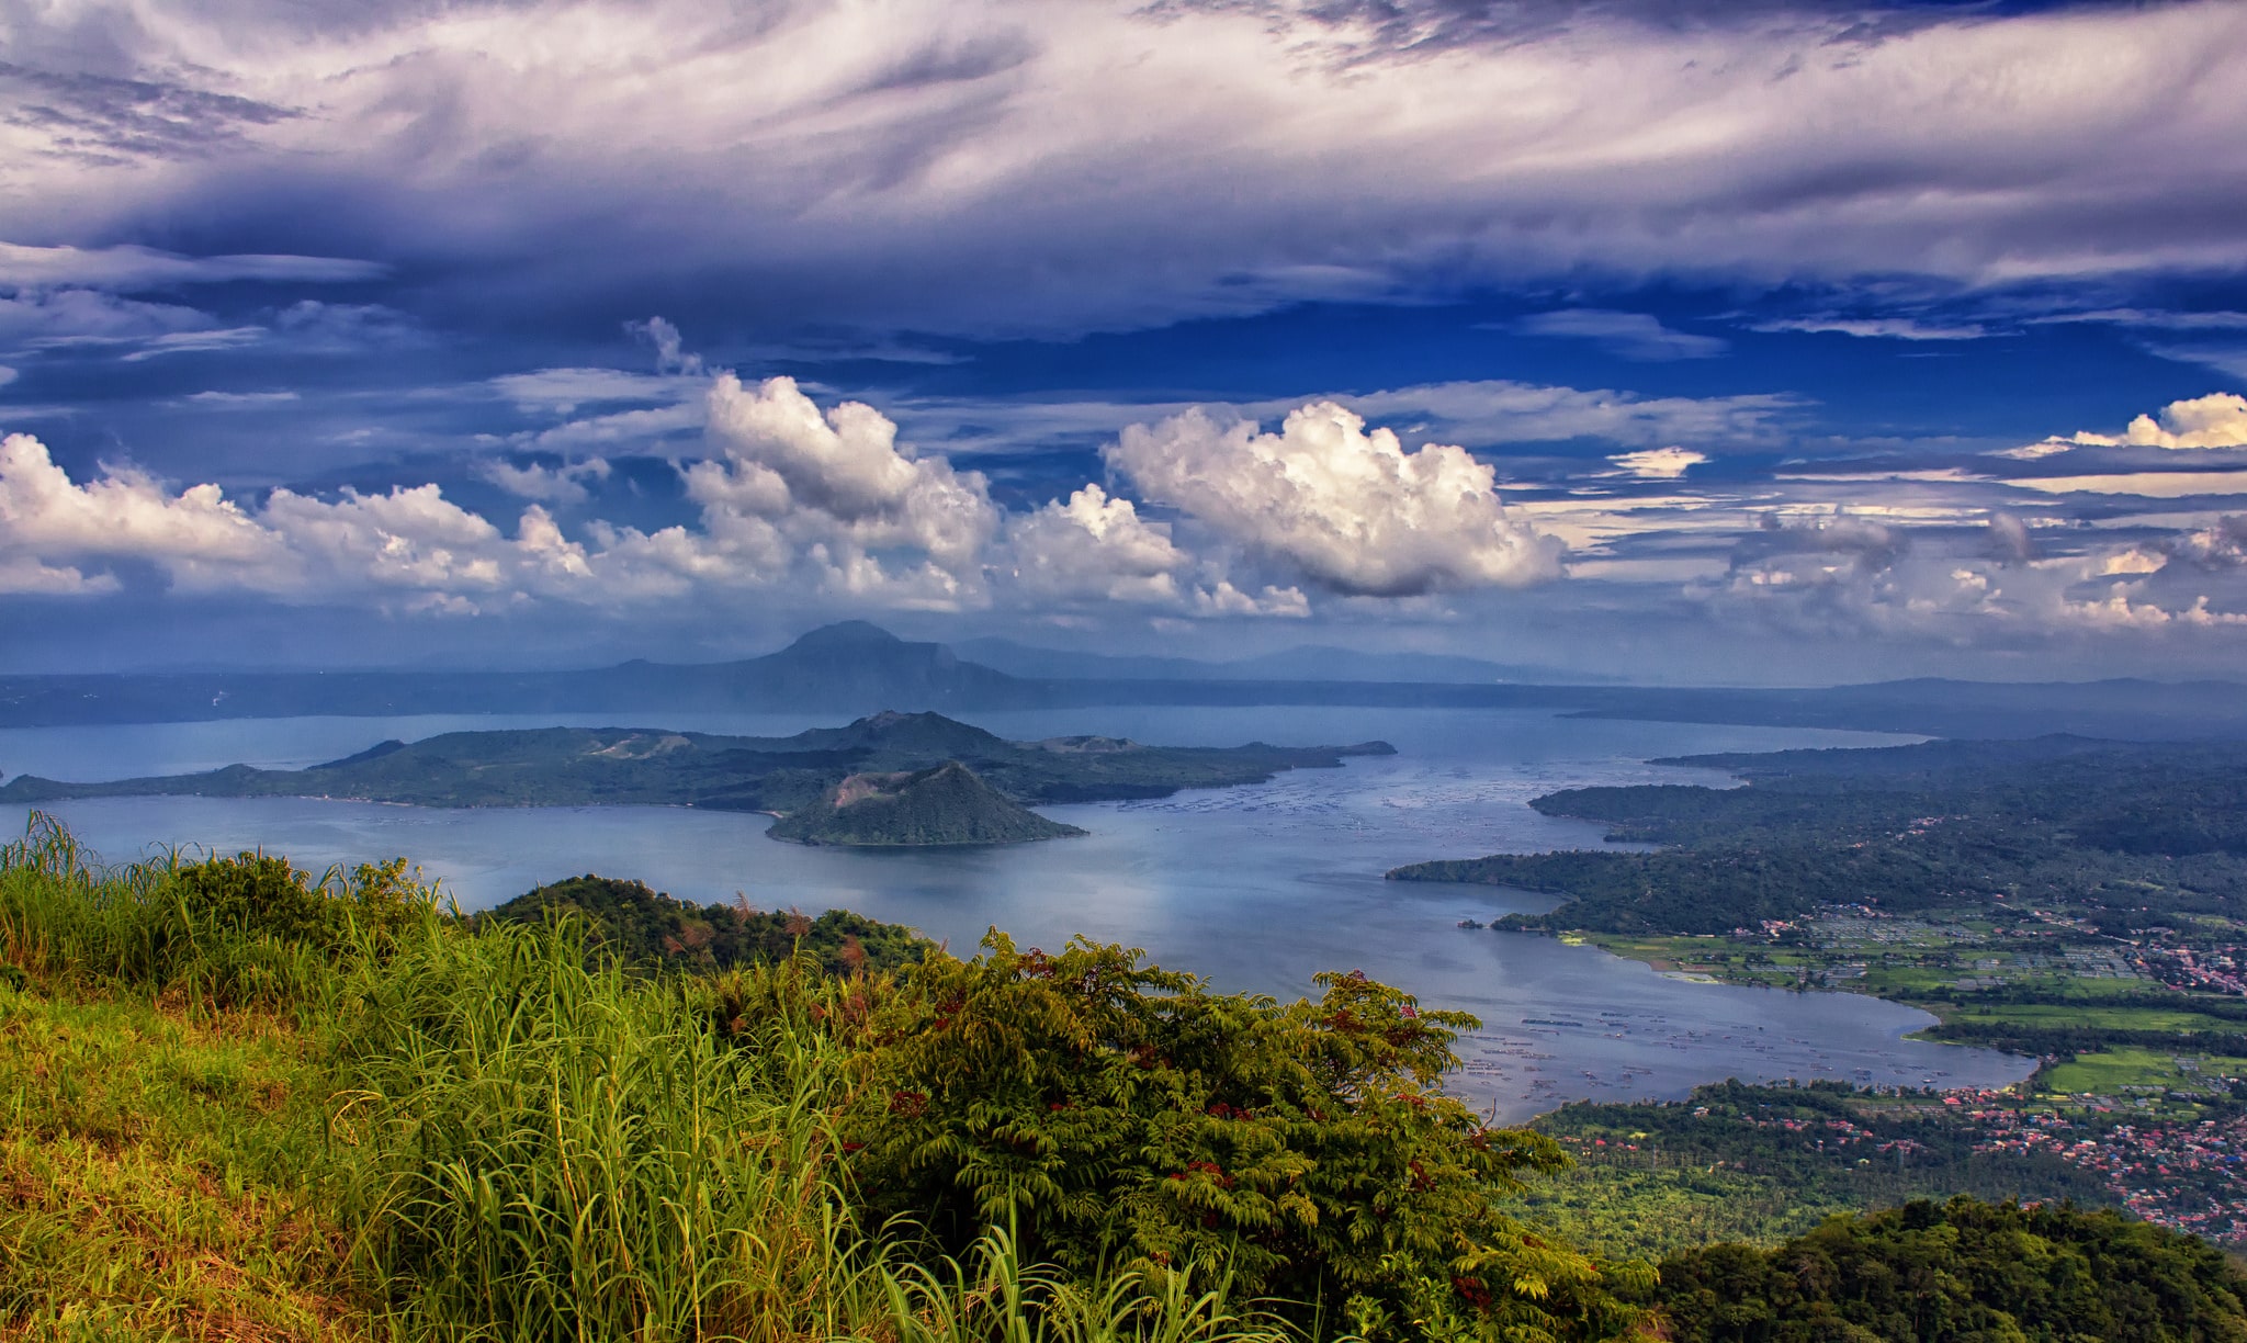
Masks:
[[[1701,1224],[1768,1242],[1905,1195],[1986,1195],[2004,1172],[2022,1197],[2247,1249],[2247,750],[2045,737],[1658,764],[1746,786],[1550,793],[1532,806],[1663,847],[1391,876],[1553,892],[1553,912],[1492,928],[1683,977],[1912,1004],[1937,1017],[1921,1038],[2038,1069],[1980,1094],[1732,1087],[1564,1107],[1537,1125],[1580,1154],[1557,1215],[1598,1224],[1591,1244],[1654,1253]]]

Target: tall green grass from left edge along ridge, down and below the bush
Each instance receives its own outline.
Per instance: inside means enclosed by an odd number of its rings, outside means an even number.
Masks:
[[[843,1047],[809,966],[719,986],[589,963],[582,930],[470,928],[400,867],[321,919],[213,916],[178,856],[101,867],[58,824],[0,847],[0,972],[49,995],[292,1022],[364,1318],[400,1341],[1276,1343],[1220,1285],[1092,1282],[984,1237],[915,1262],[861,1226],[831,1116]],[[299,912],[301,914],[301,912]],[[326,914],[335,914],[326,919]],[[324,930],[308,937],[303,928]],[[865,986],[858,986],[861,990]],[[744,1004],[753,1004],[744,1011]],[[54,1307],[0,1264],[0,1336]],[[13,1314],[13,1318],[7,1318]]]

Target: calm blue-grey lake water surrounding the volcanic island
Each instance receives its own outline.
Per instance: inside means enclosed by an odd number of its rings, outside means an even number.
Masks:
[[[0,730],[0,773],[115,779],[225,764],[294,768],[386,737],[611,725],[600,719],[249,719],[133,728]],[[303,867],[404,853],[465,907],[562,876],[636,876],[690,901],[807,912],[849,907],[910,923],[955,952],[998,925],[1022,945],[1074,934],[1146,948],[1220,988],[1312,993],[1317,970],[1364,970],[1422,1004],[1476,1013],[1454,1091],[1523,1118],[1562,1100],[1676,1098],[1699,1082],[1836,1078],[2002,1085],[2031,1060],[1903,1040],[1932,1024],[1858,995],[1692,984],[1595,948],[1463,930],[1544,896],[1382,880],[1422,858],[1600,847],[1600,826],[1537,815],[1575,784],[1701,782],[1721,775],[1649,757],[1793,746],[1883,746],[1870,732],[1613,723],[1537,710],[1115,707],[968,714],[1002,737],[1072,732],[1164,746],[1288,746],[1382,739],[1395,757],[1297,770],[1252,788],[1159,802],[1045,808],[1092,831],[1016,849],[863,853],[764,838],[762,815],[665,806],[434,811],[360,802],[115,797],[52,811],[110,860],[160,844],[263,847]],[[786,734],[825,719],[640,714],[627,725]],[[13,817],[0,817],[13,822]]]

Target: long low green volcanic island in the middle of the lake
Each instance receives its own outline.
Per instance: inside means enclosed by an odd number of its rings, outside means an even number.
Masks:
[[[1357,746],[1141,746],[1121,737],[1007,741],[944,714],[881,712],[795,737],[654,728],[447,732],[384,741],[303,770],[70,784],[18,775],[0,802],[72,797],[348,797],[413,806],[703,806],[780,815],[773,838],[816,844],[1011,844],[1083,833],[1029,806],[1166,797],[1335,768]]]

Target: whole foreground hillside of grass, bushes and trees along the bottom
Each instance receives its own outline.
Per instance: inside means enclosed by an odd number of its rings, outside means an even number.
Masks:
[[[36,817],[0,847],[0,1336],[2247,1339],[2202,1237],[1928,1197],[2067,1175],[1973,1170],[1941,1100],[1492,1127],[1443,1089],[1474,1024],[600,876],[463,916],[404,860],[101,867]],[[1721,1127],[1766,1157],[1687,1145]],[[1663,1172],[1710,1213],[1647,1204]],[[1723,1215],[1777,1179],[1838,1215]]]

